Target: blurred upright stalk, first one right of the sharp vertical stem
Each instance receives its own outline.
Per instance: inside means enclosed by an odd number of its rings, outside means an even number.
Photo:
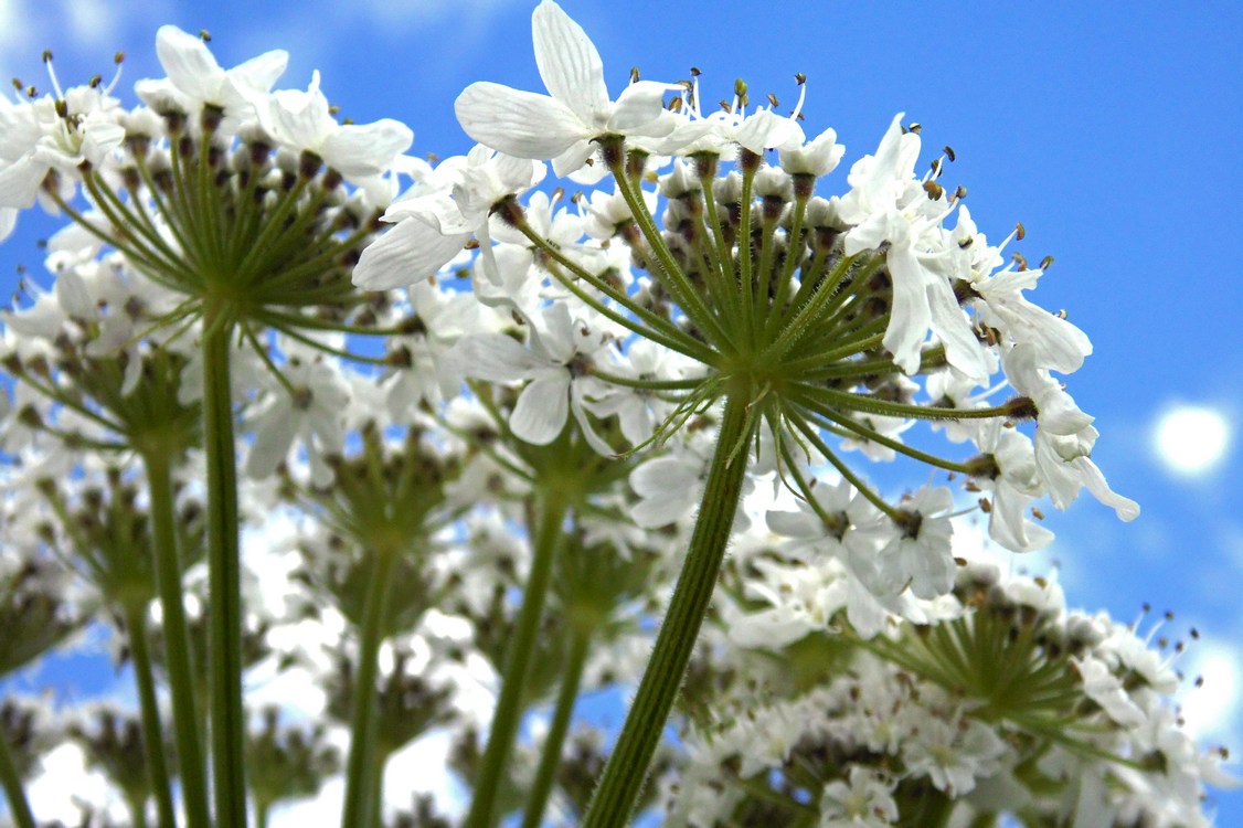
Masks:
[[[342,828],[370,826],[378,813],[373,813],[375,803],[372,789],[377,787],[374,777],[383,770],[377,761],[377,738],[379,722],[375,717],[375,678],[379,673],[380,643],[384,640],[382,629],[388,614],[389,578],[397,550],[377,547],[374,551],[370,582],[367,584],[367,608],[363,628],[359,630],[358,670],[354,680],[354,710],[349,722],[349,761],[346,770],[346,803],[341,813]]]

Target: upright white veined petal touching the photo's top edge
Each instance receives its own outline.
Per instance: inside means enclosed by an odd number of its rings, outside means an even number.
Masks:
[[[604,63],[583,27],[556,2],[544,0],[531,15],[531,32],[536,66],[552,97],[587,123],[603,118],[609,109]]]

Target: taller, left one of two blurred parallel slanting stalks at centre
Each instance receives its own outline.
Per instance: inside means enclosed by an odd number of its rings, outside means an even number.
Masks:
[[[539,617],[543,614],[552,583],[553,561],[562,541],[562,521],[568,504],[566,495],[548,487],[542,497],[542,513],[536,532],[531,572],[522,592],[522,608],[515,624],[513,639],[505,659],[505,675],[501,681],[501,697],[496,701],[492,714],[492,727],[487,735],[487,747],[480,763],[479,777],[475,780],[475,796],[470,813],[466,814],[466,828],[491,828],[496,819],[496,793],[501,776],[513,748],[522,719],[522,690],[526,685],[527,668],[539,637]]]

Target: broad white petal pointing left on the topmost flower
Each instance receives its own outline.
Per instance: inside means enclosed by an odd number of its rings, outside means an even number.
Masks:
[[[486,81],[467,86],[454,112],[467,136],[516,158],[547,160],[592,137],[566,104],[547,94]]]

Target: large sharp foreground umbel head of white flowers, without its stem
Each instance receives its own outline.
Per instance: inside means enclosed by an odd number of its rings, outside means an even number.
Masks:
[[[526,347],[467,336],[459,353],[467,375],[530,380],[510,414],[515,434],[547,444],[571,413],[589,435],[617,415],[626,444],[593,445],[670,445],[650,461],[667,472],[671,456],[695,455],[674,445],[680,425],[742,399],[735,451],[767,429],[769,462],[804,495],[793,531],[822,553],[851,547],[853,569],[881,603],[950,589],[953,501],[927,489],[889,504],[846,451],[962,475],[984,494],[992,538],[1017,552],[1053,540],[1033,518],[1044,496],[1065,508],[1088,487],[1122,520],[1139,513],[1093,462],[1093,418],[1055,377],[1083,364],[1088,337],[1027,298],[1042,270],[1002,252],[1021,230],[989,245],[961,204],[965,189],[940,183],[952,150],[916,174],[920,129],[899,116],[851,165],[846,191],[824,198],[818,180],[844,155],[833,129],[808,140],[797,111],[750,107],[745,85],[728,109],[705,116],[699,78],[635,81],[610,102],[577,24],[542,2],[533,26],[551,96],[470,86],[457,116],[484,145],[395,201],[384,215],[393,229],[354,270],[368,288],[416,283],[456,262],[474,230],[476,297],[508,307]],[[610,173],[612,185],[571,204],[542,193],[521,204],[541,159],[576,180]],[[1004,388],[1012,395],[997,399]],[[907,446],[901,435],[920,419],[976,454]],[[1034,428],[1016,428],[1024,421]],[[813,469],[829,465],[849,484],[850,508],[812,492]],[[694,460],[686,467],[699,476]],[[687,489],[682,476],[666,480],[667,491],[640,491],[645,502]]]

